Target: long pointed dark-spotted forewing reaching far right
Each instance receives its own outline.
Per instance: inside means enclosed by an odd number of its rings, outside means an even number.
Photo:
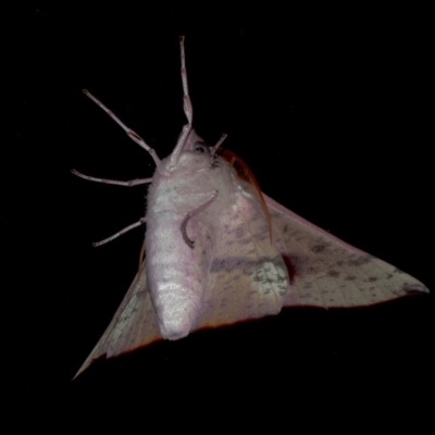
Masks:
[[[274,244],[289,269],[284,306],[361,307],[428,289],[264,196]]]

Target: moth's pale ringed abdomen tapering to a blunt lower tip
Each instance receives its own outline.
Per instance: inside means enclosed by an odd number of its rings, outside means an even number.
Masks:
[[[196,232],[195,248],[183,238],[183,219],[171,213],[148,213],[146,249],[148,284],[163,338],[185,337],[201,311],[209,265],[204,240]]]

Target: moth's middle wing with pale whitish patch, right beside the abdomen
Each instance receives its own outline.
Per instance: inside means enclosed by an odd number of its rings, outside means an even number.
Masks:
[[[257,196],[236,195],[208,272],[197,328],[276,314],[288,290],[288,273],[270,238]]]

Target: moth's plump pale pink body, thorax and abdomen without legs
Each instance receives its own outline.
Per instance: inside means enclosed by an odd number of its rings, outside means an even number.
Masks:
[[[210,154],[184,151],[177,165],[162,161],[147,199],[147,272],[152,300],[164,338],[181,338],[196,326],[200,313],[213,244],[223,237],[228,210],[239,190],[233,169],[224,161],[212,164]],[[212,203],[182,224],[187,213],[217,196]]]

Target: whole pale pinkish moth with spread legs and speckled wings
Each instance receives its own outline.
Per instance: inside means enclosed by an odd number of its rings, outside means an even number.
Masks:
[[[283,307],[362,307],[427,288],[262,194],[249,169],[221,144],[208,146],[192,128],[184,38],[181,38],[183,127],[160,160],[144,139],[85,90],[156,162],[144,223],[145,260],[110,325],[76,376],[94,360],[158,339],[277,314]],[[100,243],[100,244],[102,244]],[[97,244],[98,245],[98,244]]]

